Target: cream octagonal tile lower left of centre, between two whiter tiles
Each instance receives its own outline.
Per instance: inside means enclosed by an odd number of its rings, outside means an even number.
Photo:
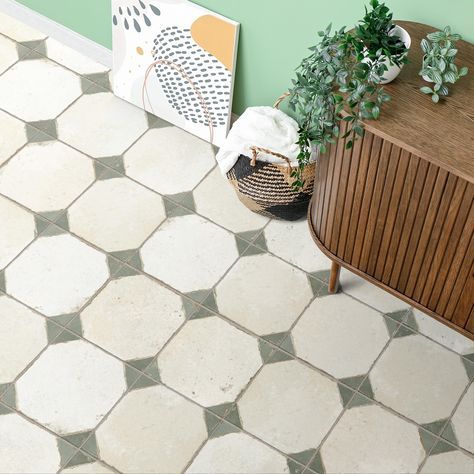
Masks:
[[[145,276],[112,280],[82,312],[83,335],[123,360],[153,357],[184,321],[182,306]]]

